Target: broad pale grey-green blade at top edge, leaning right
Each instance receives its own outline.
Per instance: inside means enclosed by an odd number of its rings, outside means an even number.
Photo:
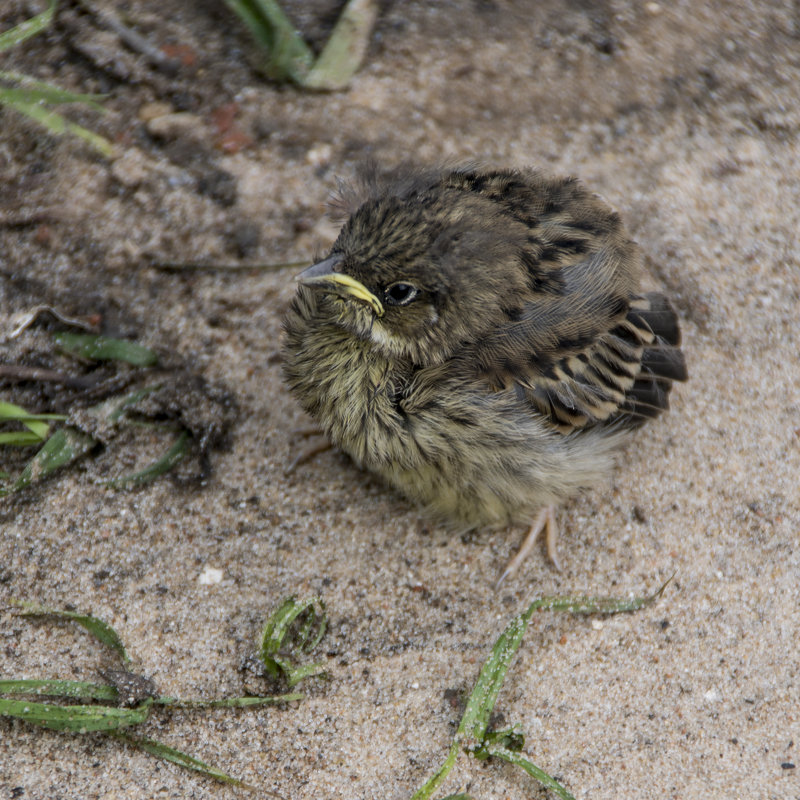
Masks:
[[[374,0],[349,0],[302,86],[306,89],[344,89],[364,60],[377,16]]]

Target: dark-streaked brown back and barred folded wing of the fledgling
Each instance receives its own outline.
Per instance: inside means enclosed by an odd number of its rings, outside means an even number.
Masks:
[[[641,256],[618,215],[572,179],[466,170],[449,181],[527,229],[530,293],[473,346],[478,371],[565,432],[666,409],[672,381],[687,377],[678,321],[662,295],[637,294]]]

